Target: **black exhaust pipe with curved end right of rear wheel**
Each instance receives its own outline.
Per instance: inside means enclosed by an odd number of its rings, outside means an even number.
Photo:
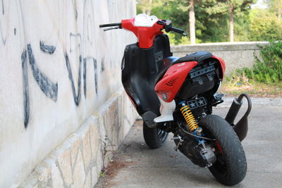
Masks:
[[[238,121],[238,123],[234,125],[234,120],[238,115],[238,112],[243,104],[244,96],[247,99],[247,111],[245,112],[243,117]],[[238,98],[235,98],[233,100],[233,103],[225,118],[225,120],[233,127],[233,130],[235,130],[241,142],[247,136],[247,116],[250,114],[251,110],[252,110],[252,101],[250,99],[250,96],[248,96],[247,94],[240,94]]]

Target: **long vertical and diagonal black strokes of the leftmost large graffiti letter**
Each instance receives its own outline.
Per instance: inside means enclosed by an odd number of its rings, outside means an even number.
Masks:
[[[22,68],[23,68],[23,109],[24,109],[24,124],[25,128],[27,127],[29,118],[30,118],[30,96],[29,96],[29,89],[28,89],[28,77],[27,77],[27,54],[28,60],[30,62],[32,75],[35,77],[37,84],[39,85],[42,92],[56,102],[58,96],[58,83],[54,84],[49,80],[49,78],[44,75],[44,73],[39,70],[36,65],[35,57],[32,53],[32,47],[30,44],[27,44],[27,52],[26,50],[23,51],[21,56],[22,60]]]

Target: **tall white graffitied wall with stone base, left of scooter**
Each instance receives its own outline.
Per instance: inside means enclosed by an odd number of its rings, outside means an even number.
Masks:
[[[0,187],[95,183],[136,115],[120,90],[135,37],[99,24],[133,16],[134,0],[0,1]]]

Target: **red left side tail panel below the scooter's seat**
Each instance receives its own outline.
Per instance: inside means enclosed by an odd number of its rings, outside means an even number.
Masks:
[[[166,102],[171,102],[195,65],[197,65],[197,61],[190,61],[178,63],[168,68],[164,77],[154,87],[158,96]]]

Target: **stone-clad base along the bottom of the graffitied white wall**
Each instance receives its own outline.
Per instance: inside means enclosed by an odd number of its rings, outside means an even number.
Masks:
[[[120,89],[39,163],[20,187],[93,187],[135,117],[135,108]]]

